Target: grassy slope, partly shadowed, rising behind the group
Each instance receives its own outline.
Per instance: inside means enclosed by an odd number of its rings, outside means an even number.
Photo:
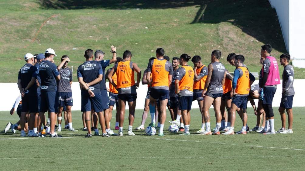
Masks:
[[[145,69],[150,56],[155,56],[157,47],[163,47],[170,57],[182,53],[200,55],[206,64],[210,61],[210,52],[219,49],[224,57],[222,62],[230,71],[234,67],[225,62],[226,56],[231,52],[241,53],[252,72],[260,70],[261,45],[271,43],[274,47],[272,53],[277,57],[285,52],[276,13],[267,0],[232,1],[234,3],[229,7],[223,0],[168,3],[80,3],[74,0],[79,6],[69,6],[59,3],[64,2],[59,0],[52,2],[51,8],[36,0],[0,2],[0,82],[16,82],[18,70],[24,63],[24,54],[43,53],[49,47],[58,56],[68,54],[71,57],[69,65],[74,67],[74,78],[77,67],[84,61],[84,50],[104,50],[105,58],[109,59],[111,45],[117,46],[118,56],[122,56],[126,49],[131,50],[132,60],[141,69]],[[205,15],[204,20],[201,19],[202,14]],[[56,16],[30,43],[41,24],[52,15]],[[270,26],[264,27],[267,22],[271,22]],[[56,63],[59,63],[59,58],[56,58]],[[304,71],[295,68],[295,77],[305,78]]]

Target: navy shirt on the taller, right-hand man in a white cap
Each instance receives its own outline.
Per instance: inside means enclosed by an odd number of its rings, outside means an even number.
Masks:
[[[56,77],[59,75],[54,63],[44,60],[39,64],[41,91],[57,91]]]

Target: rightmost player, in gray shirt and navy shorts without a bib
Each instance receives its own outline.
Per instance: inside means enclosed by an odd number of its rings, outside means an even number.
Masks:
[[[288,53],[284,53],[280,56],[280,63],[284,67],[283,71],[283,90],[282,90],[282,100],[278,111],[281,115],[282,120],[282,128],[277,131],[277,133],[281,134],[289,134],[292,132],[292,121],[293,121],[293,114],[292,114],[292,101],[294,96],[294,87],[293,87],[293,80],[294,80],[294,70],[291,65],[289,65],[290,55]],[[286,129],[286,115],[285,110],[288,115],[288,129]]]

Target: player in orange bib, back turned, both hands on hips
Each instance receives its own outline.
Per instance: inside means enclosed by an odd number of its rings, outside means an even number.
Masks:
[[[132,54],[129,50],[125,50],[123,53],[123,61],[115,64],[108,74],[109,82],[116,87],[119,98],[119,133],[118,136],[123,136],[123,123],[125,117],[125,107],[128,103],[129,107],[129,126],[128,135],[135,135],[132,132],[132,125],[135,120],[135,105],[137,102],[137,91],[141,79],[141,70],[138,65],[131,62]],[[137,82],[135,82],[135,73],[137,73]],[[112,80],[112,76],[117,74],[117,84]]]

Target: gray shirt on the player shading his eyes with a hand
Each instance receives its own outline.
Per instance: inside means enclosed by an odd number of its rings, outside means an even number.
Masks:
[[[70,82],[72,81],[72,70],[70,68],[61,68],[59,70],[60,80],[57,82],[58,92],[72,92]]]

